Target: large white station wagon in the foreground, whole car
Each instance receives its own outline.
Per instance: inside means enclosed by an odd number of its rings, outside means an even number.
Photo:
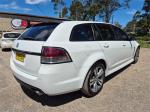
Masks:
[[[36,93],[81,90],[95,96],[104,79],[136,63],[139,44],[120,28],[99,22],[65,21],[29,28],[13,44],[15,78]]]

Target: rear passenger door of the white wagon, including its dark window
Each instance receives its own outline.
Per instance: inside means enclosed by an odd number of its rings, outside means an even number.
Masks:
[[[123,46],[120,42],[116,41],[114,32],[110,25],[95,24],[97,32],[99,32],[99,45],[103,49],[108,63],[108,69],[111,70],[122,64]],[[98,33],[97,33],[98,34]]]

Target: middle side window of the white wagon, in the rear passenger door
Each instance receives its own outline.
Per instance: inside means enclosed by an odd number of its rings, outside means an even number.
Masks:
[[[103,25],[103,24],[97,24],[97,27],[98,27],[104,41],[115,40],[114,33],[110,26]]]

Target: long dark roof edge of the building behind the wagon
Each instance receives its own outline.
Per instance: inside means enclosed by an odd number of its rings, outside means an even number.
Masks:
[[[63,21],[71,21],[69,19],[63,18],[54,18],[48,16],[37,16],[30,14],[19,14],[19,13],[11,13],[11,12],[0,12],[0,17],[3,18],[12,18],[12,19],[23,19],[27,21],[36,21],[36,22],[44,22],[44,23],[62,23]]]

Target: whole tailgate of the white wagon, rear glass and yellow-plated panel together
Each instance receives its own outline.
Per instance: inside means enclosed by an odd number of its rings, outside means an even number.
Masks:
[[[26,30],[12,48],[13,61],[18,69],[36,76],[40,67],[44,42],[58,24],[37,25]]]

